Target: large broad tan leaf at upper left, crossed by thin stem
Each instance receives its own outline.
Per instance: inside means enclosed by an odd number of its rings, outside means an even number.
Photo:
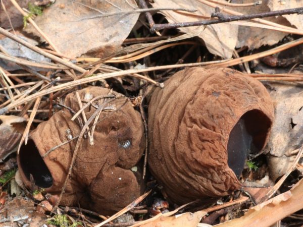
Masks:
[[[102,57],[116,51],[128,36],[139,14],[122,12],[136,8],[134,0],[57,0],[35,23],[65,55],[75,58],[94,51],[94,56]],[[116,12],[120,14],[104,16]],[[31,25],[25,30],[39,36]]]

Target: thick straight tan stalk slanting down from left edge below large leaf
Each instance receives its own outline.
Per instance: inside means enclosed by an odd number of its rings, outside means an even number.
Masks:
[[[6,31],[5,29],[3,29],[1,27],[0,27],[0,34],[3,34],[5,36],[13,39],[14,41],[16,41],[16,42],[18,42],[18,43],[26,46],[27,48],[30,48],[31,50],[33,50],[33,51],[35,51],[37,53],[40,53],[40,54],[46,56],[46,58],[52,59],[53,61],[58,62],[58,63],[66,66],[68,68],[74,69],[74,70],[76,70],[76,71],[78,71],[80,73],[85,73],[86,72],[85,69],[82,69],[79,66],[76,66],[76,65],[74,65],[74,64],[72,64],[70,62],[66,62],[66,61],[62,60],[61,58],[58,58],[58,56],[55,56],[55,55],[53,55],[51,53],[45,52],[41,48],[36,47],[36,46],[30,44],[29,42],[24,41],[23,39],[21,39],[18,36],[14,35],[14,34],[12,34],[10,32],[8,32],[8,31]]]

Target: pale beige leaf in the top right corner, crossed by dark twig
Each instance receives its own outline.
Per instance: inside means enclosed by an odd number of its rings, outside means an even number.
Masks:
[[[286,10],[286,9],[292,9],[292,8],[298,8],[302,7],[302,1],[298,0],[269,0],[268,1],[268,7],[271,9],[271,11],[276,10]],[[290,24],[296,26],[298,29],[303,29],[303,15],[298,14],[290,14],[290,15],[283,15],[282,17],[285,17]]]

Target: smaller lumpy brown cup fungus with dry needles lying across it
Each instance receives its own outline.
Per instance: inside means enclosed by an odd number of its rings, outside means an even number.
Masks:
[[[93,132],[93,145],[88,135],[82,138],[74,162],[71,177],[67,183],[61,204],[112,214],[131,203],[141,193],[141,176],[133,172],[142,156],[145,139],[144,127],[139,112],[131,102],[107,88],[88,87],[79,90],[83,105],[90,100],[84,112],[86,118],[101,108]],[[114,95],[115,94],[115,95]],[[77,139],[84,124],[71,119],[77,112],[79,102],[76,93],[66,96],[61,111],[30,134],[27,145],[23,144],[18,156],[18,165],[23,182],[27,187],[34,184],[46,192],[59,195],[64,185]],[[89,124],[89,130],[94,120]],[[67,141],[71,140],[68,143]],[[59,146],[48,155],[47,151]],[[33,181],[32,181],[33,179]]]

